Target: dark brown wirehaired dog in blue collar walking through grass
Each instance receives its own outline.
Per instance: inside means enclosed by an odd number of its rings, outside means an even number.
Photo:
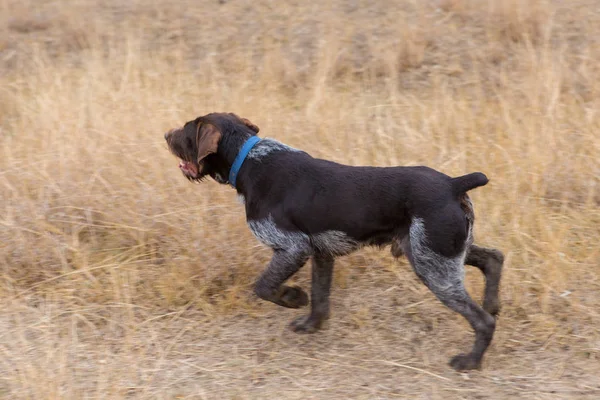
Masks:
[[[311,311],[290,324],[312,333],[329,318],[334,259],[363,246],[391,245],[416,275],[475,331],[469,353],[450,360],[456,370],[479,369],[500,310],[503,255],[473,243],[473,205],[467,192],[488,183],[480,172],[451,178],[425,166],[348,166],[313,158],[233,113],[211,113],[164,137],[190,181],[210,177],[243,200],[248,226],[273,250],[258,278],[258,297],[283,307],[309,303],[306,292],[284,285],[312,258]],[[483,307],[464,286],[464,264],[486,279]]]

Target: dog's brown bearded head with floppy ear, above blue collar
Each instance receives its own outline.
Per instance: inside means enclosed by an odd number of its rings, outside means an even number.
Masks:
[[[219,183],[227,176],[237,152],[258,126],[232,113],[212,113],[165,133],[169,150],[179,158],[179,169],[191,181],[207,175]]]

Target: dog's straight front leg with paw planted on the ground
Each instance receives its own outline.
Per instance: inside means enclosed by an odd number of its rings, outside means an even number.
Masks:
[[[334,259],[331,255],[315,254],[312,260],[311,311],[295,319],[290,328],[294,332],[313,333],[329,318],[329,293]]]

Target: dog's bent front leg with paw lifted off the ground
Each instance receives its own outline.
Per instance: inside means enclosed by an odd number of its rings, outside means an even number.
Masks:
[[[307,305],[308,295],[304,290],[283,283],[302,268],[308,257],[309,252],[304,249],[276,249],[269,266],[256,282],[256,295],[288,308]]]

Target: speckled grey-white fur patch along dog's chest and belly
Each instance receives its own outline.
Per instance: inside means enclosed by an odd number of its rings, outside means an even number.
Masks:
[[[331,255],[344,255],[357,249],[359,244],[341,231],[325,231],[313,236],[303,232],[284,231],[277,227],[273,217],[249,221],[250,230],[263,244],[273,249],[306,249]]]

